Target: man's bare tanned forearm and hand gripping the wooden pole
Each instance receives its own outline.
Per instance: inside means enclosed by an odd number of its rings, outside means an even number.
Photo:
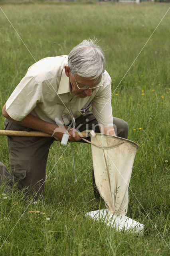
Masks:
[[[58,140],[58,141],[61,141],[63,133],[65,132],[65,130],[67,130],[67,126],[62,126],[62,125],[45,122],[45,121],[41,120],[40,118],[36,118],[35,116],[32,116],[31,114],[28,114],[28,116],[26,116],[21,121],[16,121],[16,120],[12,119],[6,112],[6,104],[2,108],[2,115],[5,118],[8,118],[20,125],[26,126],[28,128],[31,128],[31,129],[34,129],[37,131],[45,132],[47,134],[50,134],[51,136],[53,135],[55,140]],[[54,131],[55,131],[55,133],[54,133]],[[75,129],[72,129],[69,131],[69,135],[70,135],[69,141],[75,142],[75,141],[81,140],[81,138],[79,136],[77,136],[75,134],[75,132],[76,132]]]

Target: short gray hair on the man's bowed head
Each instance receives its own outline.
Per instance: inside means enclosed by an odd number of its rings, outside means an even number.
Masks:
[[[105,71],[105,56],[97,40],[83,40],[68,56],[68,65],[73,75],[97,79]]]

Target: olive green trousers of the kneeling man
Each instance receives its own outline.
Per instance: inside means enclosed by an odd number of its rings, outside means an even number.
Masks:
[[[114,128],[117,136],[127,138],[128,124],[120,118],[113,118]],[[88,111],[75,120],[75,128],[79,132],[83,130],[95,130],[99,132],[99,126],[95,116]],[[21,126],[16,122],[5,119],[5,130],[24,130],[32,129]],[[10,172],[6,166],[0,162],[0,182],[8,180],[9,186],[14,186],[17,190],[24,189],[26,195],[34,195],[37,200],[42,195],[45,182],[45,168],[51,144],[55,141],[53,137],[19,137],[8,136],[8,150],[10,159]],[[88,138],[90,140],[90,137]],[[84,142],[81,140],[80,142]],[[93,185],[94,185],[93,179]]]

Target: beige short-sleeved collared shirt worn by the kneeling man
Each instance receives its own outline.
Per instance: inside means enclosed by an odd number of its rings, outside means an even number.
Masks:
[[[44,58],[30,68],[6,102],[6,112],[16,121],[28,114],[46,122],[68,125],[71,116],[81,116],[82,108],[92,101],[91,112],[99,124],[113,125],[111,107],[111,78],[103,73],[103,86],[86,98],[79,98],[71,91],[69,78],[65,74],[67,55]],[[104,107],[105,106],[105,107]],[[104,108],[103,108],[104,107]]]

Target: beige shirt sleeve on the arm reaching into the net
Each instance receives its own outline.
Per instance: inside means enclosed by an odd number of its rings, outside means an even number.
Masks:
[[[103,75],[103,88],[101,88],[93,99],[91,110],[98,123],[104,127],[113,125],[111,96],[111,77],[105,71]]]

